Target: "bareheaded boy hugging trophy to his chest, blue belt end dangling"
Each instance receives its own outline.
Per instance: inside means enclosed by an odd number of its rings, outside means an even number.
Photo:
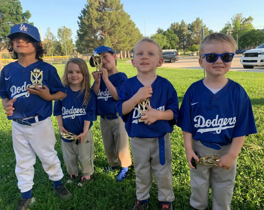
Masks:
[[[133,67],[137,76],[129,78],[116,103],[131,138],[136,171],[137,201],[133,210],[148,208],[152,171],[158,185],[160,209],[172,210],[172,151],[169,133],[179,112],[177,92],[156,74],[162,65],[162,49],[153,39],[143,38],[134,47]]]

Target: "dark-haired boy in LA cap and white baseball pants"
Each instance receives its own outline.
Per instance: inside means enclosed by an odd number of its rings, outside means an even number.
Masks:
[[[56,139],[50,118],[52,101],[64,98],[66,89],[57,70],[42,60],[46,52],[36,27],[28,23],[15,25],[7,37],[10,39],[8,50],[18,61],[6,65],[1,71],[0,96],[5,114],[12,120],[15,173],[22,193],[17,210],[28,209],[35,201],[32,186],[36,154],[53,181],[55,193],[62,199],[71,199],[71,193],[61,182],[63,173],[54,150]],[[44,89],[37,85],[35,90],[28,88],[32,84],[30,79],[34,68],[42,71],[42,76],[34,79],[42,78]]]

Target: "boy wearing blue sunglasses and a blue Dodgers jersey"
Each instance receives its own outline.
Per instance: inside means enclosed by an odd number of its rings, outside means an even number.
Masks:
[[[223,33],[203,39],[199,64],[207,76],[191,84],[180,108],[177,125],[190,166],[190,204],[197,210],[208,209],[210,182],[213,210],[230,210],[236,159],[245,137],[257,133],[248,94],[226,78],[235,46],[234,39]],[[202,157],[211,163],[198,164]]]

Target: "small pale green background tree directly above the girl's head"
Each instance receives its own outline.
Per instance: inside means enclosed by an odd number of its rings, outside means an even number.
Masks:
[[[59,38],[59,45],[61,48],[61,54],[62,55],[69,55],[73,53],[73,39],[71,36],[73,33],[71,32],[71,29],[63,26],[58,29],[57,36]],[[66,53],[67,52],[67,53]]]

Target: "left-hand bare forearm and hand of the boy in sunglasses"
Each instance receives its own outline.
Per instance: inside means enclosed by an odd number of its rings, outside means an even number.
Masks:
[[[193,135],[186,131],[182,131],[182,132],[183,132],[183,142],[184,142],[184,148],[185,148],[185,153],[186,153],[188,164],[192,169],[195,169],[195,167],[193,167],[191,164],[192,158],[198,161],[198,157],[195,155],[193,148],[192,148]]]

